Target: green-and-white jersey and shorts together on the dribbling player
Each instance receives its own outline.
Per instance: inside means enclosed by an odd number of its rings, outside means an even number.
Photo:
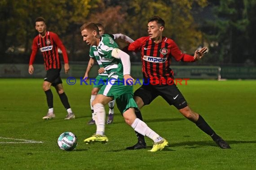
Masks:
[[[112,57],[112,51],[119,48],[114,39],[108,34],[103,34],[97,51],[100,55],[102,66],[109,75],[109,81],[103,85],[98,94],[112,97],[116,100],[119,111],[123,114],[126,110],[133,107],[137,109],[137,104],[133,99],[133,86],[119,84],[119,80],[124,79],[124,69],[121,59]]]

